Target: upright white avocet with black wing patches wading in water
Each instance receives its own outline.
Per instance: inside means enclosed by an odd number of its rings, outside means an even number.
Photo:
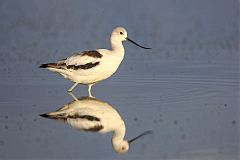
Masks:
[[[124,57],[122,42],[125,40],[141,48],[151,49],[137,44],[128,38],[127,31],[124,28],[117,27],[112,31],[110,37],[112,50],[97,49],[83,51],[56,63],[42,64],[40,67],[57,72],[64,78],[73,81],[74,84],[68,89],[68,92],[72,92],[78,84],[88,85],[88,94],[91,97],[92,85],[107,79],[118,69]]]

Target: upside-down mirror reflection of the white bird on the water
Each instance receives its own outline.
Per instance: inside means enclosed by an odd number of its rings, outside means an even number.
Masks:
[[[117,153],[126,153],[133,141],[151,133],[148,130],[131,140],[125,140],[125,123],[116,109],[97,98],[81,97],[77,99],[72,93],[70,95],[74,99],[72,102],[55,112],[49,112],[41,116],[64,121],[81,131],[113,132],[112,146]]]

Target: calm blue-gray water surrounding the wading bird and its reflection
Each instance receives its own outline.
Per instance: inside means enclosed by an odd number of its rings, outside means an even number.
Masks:
[[[0,0],[0,159],[238,159],[237,0]],[[118,72],[93,87],[125,120],[126,138],[153,129],[126,155],[111,134],[39,117],[71,101],[71,82],[41,63],[125,42]],[[87,94],[78,86],[75,94]]]

